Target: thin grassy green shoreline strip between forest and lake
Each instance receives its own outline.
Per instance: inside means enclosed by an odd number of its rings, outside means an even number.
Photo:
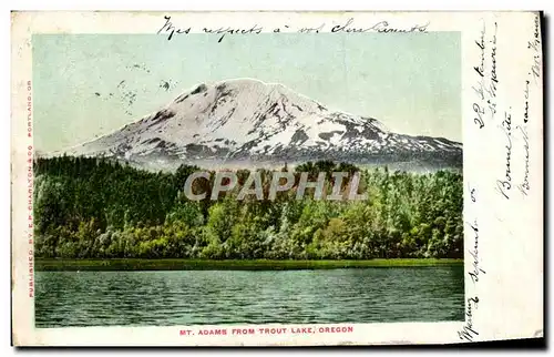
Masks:
[[[142,271],[301,271],[371,267],[463,266],[461,258],[390,258],[365,261],[274,259],[65,259],[35,258],[35,272],[142,272]]]

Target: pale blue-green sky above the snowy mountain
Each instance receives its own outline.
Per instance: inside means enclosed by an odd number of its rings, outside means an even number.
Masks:
[[[255,78],[400,133],[461,141],[458,32],[37,34],[35,147],[62,150],[138,120],[202,82]],[[167,83],[168,88],[164,88]]]

